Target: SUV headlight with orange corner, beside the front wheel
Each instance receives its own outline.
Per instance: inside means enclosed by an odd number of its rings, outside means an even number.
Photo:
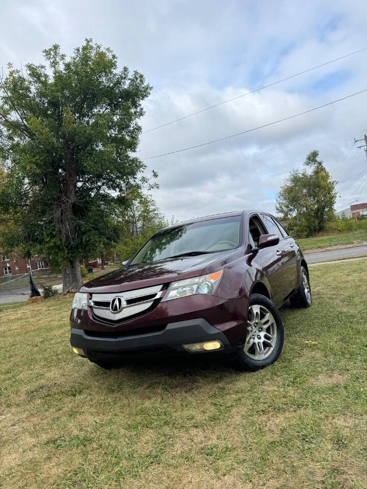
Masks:
[[[219,285],[222,275],[223,270],[219,270],[214,274],[172,282],[162,301],[171,301],[172,299],[195,294],[213,295]]]

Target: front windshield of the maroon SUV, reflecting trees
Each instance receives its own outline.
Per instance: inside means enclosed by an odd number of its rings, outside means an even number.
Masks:
[[[130,265],[233,250],[240,244],[240,222],[241,216],[235,215],[167,229],[149,239]]]

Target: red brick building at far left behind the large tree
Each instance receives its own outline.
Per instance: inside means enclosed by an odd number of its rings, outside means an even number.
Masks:
[[[43,275],[49,273],[49,264],[44,257],[35,255],[31,260],[20,258],[15,253],[0,253],[0,277],[29,274]]]

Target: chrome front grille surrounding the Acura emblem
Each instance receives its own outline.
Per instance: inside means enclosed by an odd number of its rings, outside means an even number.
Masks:
[[[126,292],[95,293],[92,294],[89,305],[96,317],[113,322],[121,321],[130,316],[141,314],[149,309],[153,302],[161,297],[163,293],[162,289],[163,285],[155,285],[153,287],[128,290]],[[110,309],[111,301],[115,297],[123,297],[125,300],[125,305],[122,310],[117,313],[111,312]],[[130,301],[131,303],[129,304]]]

